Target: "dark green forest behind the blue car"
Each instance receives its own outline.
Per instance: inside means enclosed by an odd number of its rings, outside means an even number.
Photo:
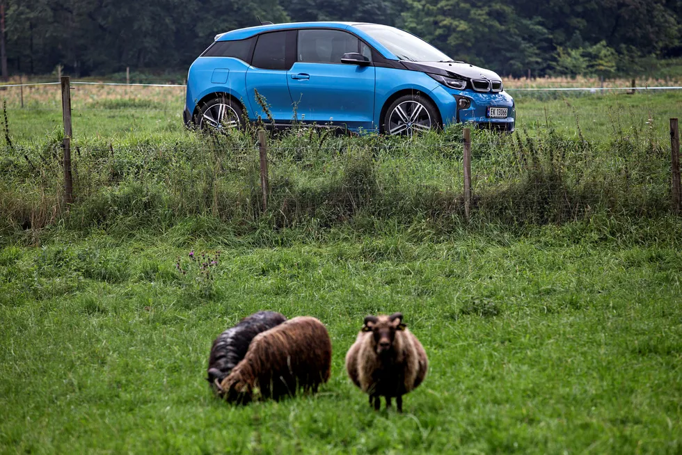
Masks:
[[[263,21],[406,29],[505,77],[679,74],[680,0],[3,0],[9,74],[182,79],[214,35]],[[174,80],[175,82],[182,82]]]

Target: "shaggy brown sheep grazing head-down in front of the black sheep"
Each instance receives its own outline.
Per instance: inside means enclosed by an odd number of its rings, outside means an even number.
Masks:
[[[331,374],[331,340],[314,317],[295,317],[260,333],[219,386],[219,397],[246,404],[260,390],[262,399],[317,392]]]

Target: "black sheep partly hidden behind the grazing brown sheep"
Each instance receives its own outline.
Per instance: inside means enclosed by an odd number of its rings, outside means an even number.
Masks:
[[[286,321],[282,314],[274,311],[259,311],[241,319],[236,326],[228,328],[216,338],[208,359],[207,381],[214,389],[230,374],[241,359],[246,356],[253,337]]]

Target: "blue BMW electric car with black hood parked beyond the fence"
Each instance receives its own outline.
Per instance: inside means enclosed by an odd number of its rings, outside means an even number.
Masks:
[[[513,131],[515,111],[498,74],[452,61],[415,35],[300,22],[217,35],[189,68],[188,126],[225,129],[259,117],[411,136],[454,122]]]

